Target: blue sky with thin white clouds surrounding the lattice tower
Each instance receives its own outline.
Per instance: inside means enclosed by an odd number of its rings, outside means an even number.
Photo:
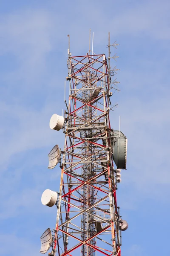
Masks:
[[[0,1],[0,255],[40,255],[40,236],[55,225],[41,195],[59,189],[48,153],[64,136],[49,120],[65,107],[67,35],[72,54],[86,54],[90,28],[94,52],[107,54],[108,31],[120,44],[111,124],[118,129],[120,115],[128,138],[122,256],[170,255],[169,13],[168,0]]]

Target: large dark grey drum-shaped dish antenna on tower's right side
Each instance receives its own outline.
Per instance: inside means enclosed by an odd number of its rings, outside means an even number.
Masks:
[[[120,133],[120,137],[119,137]],[[114,151],[113,151],[113,160],[117,166],[117,169],[126,169],[126,158],[127,158],[127,138],[122,133],[122,131],[114,131],[113,136],[116,138],[113,139]]]

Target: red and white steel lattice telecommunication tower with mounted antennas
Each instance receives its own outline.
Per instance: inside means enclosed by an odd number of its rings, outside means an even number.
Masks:
[[[127,138],[110,124],[113,79],[117,69],[108,58],[89,50],[72,56],[68,49],[69,99],[63,116],[54,114],[50,128],[65,134],[63,150],[55,145],[49,157],[49,169],[61,168],[58,192],[46,189],[42,204],[57,207],[56,226],[41,236],[40,253],[59,256],[121,256],[122,220],[116,200],[121,169],[126,169]],[[113,165],[113,160],[116,168]]]

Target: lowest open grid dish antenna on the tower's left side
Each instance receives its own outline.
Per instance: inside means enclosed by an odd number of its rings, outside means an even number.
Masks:
[[[53,241],[50,228],[45,230],[45,232],[42,234],[40,239],[41,239],[40,253],[45,254],[50,249]]]

